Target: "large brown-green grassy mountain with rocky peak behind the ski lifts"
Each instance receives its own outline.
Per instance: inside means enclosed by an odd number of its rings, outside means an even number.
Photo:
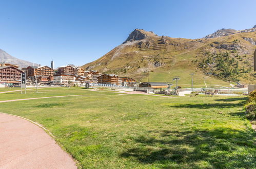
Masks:
[[[183,85],[191,83],[190,73],[195,73],[194,84],[199,86],[204,81],[222,86],[237,81],[256,83],[252,70],[254,29],[221,29],[199,39],[158,36],[135,29],[122,45],[83,68],[130,76],[138,81],[147,80],[147,71],[150,81],[172,82],[174,76],[180,76],[179,83]]]

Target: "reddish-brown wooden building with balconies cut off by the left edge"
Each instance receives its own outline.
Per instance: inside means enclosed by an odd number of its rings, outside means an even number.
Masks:
[[[14,66],[0,67],[0,82],[1,83],[21,83],[22,70]]]

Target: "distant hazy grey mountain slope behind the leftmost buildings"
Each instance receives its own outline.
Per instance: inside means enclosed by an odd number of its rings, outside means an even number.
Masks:
[[[13,57],[10,54],[8,54],[6,51],[0,49],[0,62],[4,62],[4,61],[6,63],[18,65],[19,68],[26,68],[28,66],[33,65],[32,62]],[[34,64],[34,66],[38,66],[38,64]]]

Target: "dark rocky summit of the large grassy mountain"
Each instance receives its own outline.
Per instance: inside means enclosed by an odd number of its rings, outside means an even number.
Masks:
[[[141,39],[155,37],[155,36],[157,35],[152,31],[145,31],[143,29],[134,29],[134,31],[132,31],[129,34],[128,38],[125,40],[123,44],[127,43],[127,41],[141,40]]]

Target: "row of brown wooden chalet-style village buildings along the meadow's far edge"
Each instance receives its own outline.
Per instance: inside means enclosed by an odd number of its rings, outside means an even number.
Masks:
[[[18,65],[0,63],[0,85],[20,85],[21,74],[26,72],[27,83],[40,85],[84,86],[85,83],[102,83],[117,86],[134,87],[136,81],[130,77],[119,77],[115,74],[105,74],[82,67],[66,65],[54,69],[54,62],[48,66],[28,66],[20,69]]]

